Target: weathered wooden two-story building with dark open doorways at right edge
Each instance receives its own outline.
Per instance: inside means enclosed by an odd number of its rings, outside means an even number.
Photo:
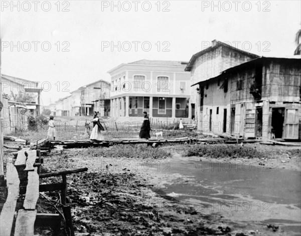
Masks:
[[[300,139],[301,59],[257,58],[198,83],[201,130],[263,139]]]

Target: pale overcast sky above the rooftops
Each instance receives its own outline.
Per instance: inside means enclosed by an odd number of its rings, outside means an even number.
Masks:
[[[14,4],[1,1],[2,73],[44,82],[45,90],[51,85],[42,105],[109,81],[107,71],[121,63],[189,61],[214,39],[260,56],[291,56],[301,23],[300,1],[216,1],[214,8],[212,1],[114,1],[113,9],[111,1]],[[111,49],[112,42],[120,48]]]

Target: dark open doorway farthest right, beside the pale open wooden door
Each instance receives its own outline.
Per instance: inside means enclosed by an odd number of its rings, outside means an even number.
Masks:
[[[272,108],[272,138],[282,138],[284,122],[284,108]]]

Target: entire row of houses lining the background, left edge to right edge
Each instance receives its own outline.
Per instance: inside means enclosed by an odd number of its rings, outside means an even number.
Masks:
[[[49,108],[56,116],[96,111],[119,121],[137,121],[147,111],[156,120],[195,122],[206,132],[301,139],[300,60],[259,57],[214,40],[189,62],[123,63],[108,71],[110,83],[82,86]],[[27,106],[39,113],[42,90],[35,82],[5,75],[2,81],[4,93],[20,88],[36,93]]]

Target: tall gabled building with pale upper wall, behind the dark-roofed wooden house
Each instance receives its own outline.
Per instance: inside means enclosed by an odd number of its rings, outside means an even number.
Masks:
[[[199,87],[200,82],[216,77],[226,69],[258,57],[217,40],[213,40],[210,47],[192,56],[185,71],[191,72],[191,100],[192,103],[196,104],[195,116],[198,121],[198,129],[202,130],[203,103],[207,88],[206,84]],[[225,100],[214,97],[215,101],[217,101],[216,99],[219,100],[220,104],[226,103]]]

